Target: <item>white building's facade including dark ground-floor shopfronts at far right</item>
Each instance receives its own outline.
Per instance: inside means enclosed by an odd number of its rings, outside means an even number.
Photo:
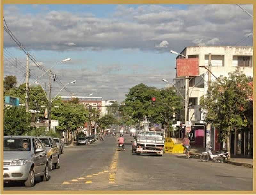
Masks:
[[[208,144],[215,150],[219,150],[222,149],[222,145],[218,142],[218,129],[213,126],[211,126],[210,129],[209,127],[206,129],[206,124],[204,122],[204,113],[206,111],[202,110],[199,105],[200,98],[206,95],[208,90],[208,70],[206,68],[209,65],[209,53],[211,53],[211,81],[214,81],[215,77],[218,78],[219,76],[228,77],[228,73],[234,72],[236,69],[244,72],[246,76],[253,78],[253,47],[192,46],[186,47],[180,53],[187,58],[198,58],[199,60],[200,76],[190,77],[189,81],[187,79],[187,92],[189,96],[187,119],[190,119],[192,122],[192,131],[189,134],[191,142],[197,146],[204,147],[207,147]],[[179,58],[184,57],[179,55],[176,59]],[[185,97],[185,79],[177,77],[177,69],[175,86],[179,89],[182,96]],[[179,93],[177,94],[180,95]],[[180,115],[184,116],[184,110]],[[184,124],[184,117],[180,117],[180,115],[177,116],[177,121],[182,121]],[[250,149],[250,146],[252,146],[252,130],[249,130],[248,132],[248,134],[243,135],[235,131],[235,134],[230,136],[231,151],[233,152],[233,155],[239,154],[239,152],[243,155],[251,155],[250,151],[252,150]],[[181,130],[181,133],[182,136],[184,136],[184,128]],[[243,142],[243,144],[241,144],[241,142]],[[244,149],[248,146],[248,151],[241,151],[242,149],[239,149],[239,145],[244,145]]]

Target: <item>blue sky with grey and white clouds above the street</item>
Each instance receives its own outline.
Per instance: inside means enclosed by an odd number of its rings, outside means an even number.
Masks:
[[[241,5],[253,15],[253,5]],[[237,5],[4,5],[8,28],[76,96],[122,101],[132,86],[163,88],[186,46],[252,46],[253,20]],[[246,38],[248,37],[248,38]],[[18,65],[15,66],[15,58]],[[4,76],[25,81],[25,53],[4,33]],[[43,72],[30,62],[32,83]],[[48,91],[48,78],[39,81]],[[52,93],[61,89],[53,82]],[[63,90],[62,95],[70,95]]]

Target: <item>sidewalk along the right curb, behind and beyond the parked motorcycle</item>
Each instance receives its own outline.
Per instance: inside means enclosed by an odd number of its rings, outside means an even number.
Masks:
[[[195,157],[200,158],[200,155],[202,154],[202,152],[205,152],[205,148],[192,147],[190,150],[190,155],[195,155]],[[244,158],[243,156],[239,156],[239,155],[232,156],[232,158],[230,158],[227,163],[233,164],[236,166],[245,166],[245,167],[253,168],[252,158]]]

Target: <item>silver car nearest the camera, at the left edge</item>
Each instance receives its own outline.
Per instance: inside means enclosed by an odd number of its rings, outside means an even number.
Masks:
[[[24,181],[33,187],[35,177],[49,180],[46,149],[36,137],[4,136],[4,182]]]

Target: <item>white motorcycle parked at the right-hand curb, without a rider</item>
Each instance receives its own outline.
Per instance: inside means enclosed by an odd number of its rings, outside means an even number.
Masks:
[[[213,162],[226,163],[228,161],[228,152],[216,152],[217,154],[212,154],[212,147],[210,147],[206,152],[202,152],[200,159],[201,161],[209,161],[209,159]]]

